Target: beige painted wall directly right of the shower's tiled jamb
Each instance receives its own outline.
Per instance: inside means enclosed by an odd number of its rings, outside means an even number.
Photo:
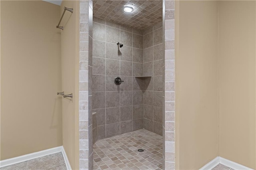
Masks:
[[[218,3],[180,1],[175,12],[176,167],[198,170],[218,156]]]

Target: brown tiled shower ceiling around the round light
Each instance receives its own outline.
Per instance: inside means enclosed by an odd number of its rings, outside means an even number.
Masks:
[[[132,13],[124,12],[124,6],[132,6]],[[93,16],[147,30],[162,22],[162,0],[93,0]]]

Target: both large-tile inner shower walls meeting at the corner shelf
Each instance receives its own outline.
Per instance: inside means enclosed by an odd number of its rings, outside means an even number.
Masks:
[[[93,18],[94,142],[142,128],[162,135],[163,51],[162,22],[142,32]]]

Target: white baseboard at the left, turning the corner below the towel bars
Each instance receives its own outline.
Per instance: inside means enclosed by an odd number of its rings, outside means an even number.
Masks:
[[[58,146],[56,148],[50,148],[50,149],[46,149],[46,150],[42,150],[39,152],[34,152],[31,154],[26,154],[26,155],[22,155],[22,156],[17,156],[14,158],[10,158],[10,159],[6,159],[6,160],[1,160],[0,161],[0,168],[5,167],[5,166],[10,166],[13,164],[18,164],[20,162],[25,162],[28,160],[32,160],[32,159],[36,159],[36,158],[40,158],[42,156],[47,156],[50,154],[55,154],[58,152],[62,152],[63,158],[65,160],[65,164],[68,170],[71,170],[70,164],[68,162],[68,157],[66,155],[66,152],[63,148],[63,146]]]

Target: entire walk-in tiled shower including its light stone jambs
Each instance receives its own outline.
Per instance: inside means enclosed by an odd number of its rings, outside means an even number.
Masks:
[[[80,139],[80,169],[173,169],[174,1],[88,4],[87,14],[86,1],[80,2],[80,30],[89,34],[89,124],[88,137]],[[126,4],[137,10],[124,14]],[[87,22],[84,16],[88,16]],[[166,31],[171,32],[165,37]],[[115,85],[116,77],[122,79],[120,85]],[[150,143],[150,136],[160,144]]]

